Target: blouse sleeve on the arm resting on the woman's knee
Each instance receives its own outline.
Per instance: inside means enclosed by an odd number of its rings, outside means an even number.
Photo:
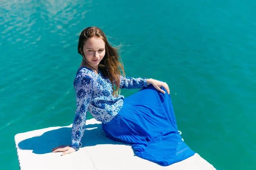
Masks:
[[[147,78],[133,78],[123,77],[120,78],[120,88],[145,88],[147,87]]]

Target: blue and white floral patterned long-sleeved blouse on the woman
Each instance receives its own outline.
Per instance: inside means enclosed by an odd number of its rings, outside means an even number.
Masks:
[[[121,77],[120,88],[147,87],[146,78]],[[72,126],[71,144],[75,150],[81,147],[81,138],[85,129],[86,113],[102,123],[111,121],[120,111],[124,96],[112,95],[112,84],[99,72],[97,75],[90,68],[81,67],[74,80],[76,90],[76,116]]]

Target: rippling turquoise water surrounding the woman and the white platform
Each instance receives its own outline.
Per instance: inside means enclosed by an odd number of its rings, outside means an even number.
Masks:
[[[168,83],[179,130],[192,150],[218,170],[255,169],[255,1],[1,5],[1,170],[19,169],[15,134],[73,122],[73,79],[81,62],[76,46],[87,26],[124,45],[127,76]]]

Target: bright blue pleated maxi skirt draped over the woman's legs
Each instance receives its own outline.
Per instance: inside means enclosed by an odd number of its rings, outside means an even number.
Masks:
[[[162,166],[195,154],[178,133],[170,95],[153,85],[125,98],[122,109],[102,129],[108,138],[131,144],[140,158]]]

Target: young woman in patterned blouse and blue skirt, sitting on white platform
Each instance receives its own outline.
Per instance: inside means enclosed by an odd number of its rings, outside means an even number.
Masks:
[[[143,159],[168,166],[193,152],[181,139],[165,82],[124,76],[117,48],[113,48],[100,28],[85,28],[78,43],[82,56],[74,80],[76,115],[71,144],[52,152],[73,153],[81,147],[86,113],[102,122],[108,138],[132,145]],[[122,74],[121,74],[122,72]],[[143,88],[124,99],[121,88]]]

